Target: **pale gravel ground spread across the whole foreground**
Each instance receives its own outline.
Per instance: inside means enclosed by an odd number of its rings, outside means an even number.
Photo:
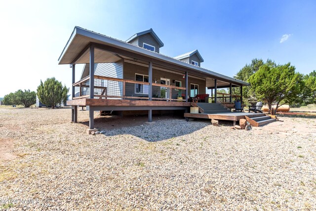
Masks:
[[[96,115],[97,116],[97,115]],[[281,117],[250,131],[231,122],[102,117],[0,107],[3,210],[313,210],[316,119]],[[126,124],[126,125],[124,125]],[[8,199],[12,200],[7,201]],[[29,201],[23,201],[29,200]]]

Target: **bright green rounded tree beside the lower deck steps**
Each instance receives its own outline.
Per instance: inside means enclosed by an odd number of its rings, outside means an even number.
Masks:
[[[269,111],[274,102],[277,109],[281,101],[283,104],[300,101],[304,87],[302,74],[295,72],[295,67],[290,63],[276,66],[264,64],[249,77],[248,82],[256,98],[267,100]]]

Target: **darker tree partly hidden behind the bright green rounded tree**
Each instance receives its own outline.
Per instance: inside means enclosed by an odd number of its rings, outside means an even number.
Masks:
[[[264,62],[262,59],[252,59],[250,64],[246,64],[239,72],[234,76],[234,78],[248,82],[248,79],[250,76],[252,76],[254,73],[256,73],[261,66],[264,64],[267,64],[271,67],[275,67],[276,63],[272,61],[271,59],[267,59],[266,62]],[[240,88],[239,87],[233,87],[232,93],[236,95],[240,95]],[[255,94],[251,91],[250,86],[243,86],[242,87],[242,96],[243,101],[246,103],[256,103],[258,99],[256,98]]]

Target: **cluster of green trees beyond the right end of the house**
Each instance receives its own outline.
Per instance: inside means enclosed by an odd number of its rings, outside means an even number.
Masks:
[[[269,106],[276,104],[276,109],[283,105],[302,106],[316,103],[316,71],[303,75],[295,71],[290,63],[276,65],[270,59],[253,59],[235,76],[236,79],[250,83],[242,89],[246,103],[265,101]],[[239,88],[233,93],[240,95]]]

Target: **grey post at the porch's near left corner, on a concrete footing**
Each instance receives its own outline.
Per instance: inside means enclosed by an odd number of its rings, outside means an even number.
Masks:
[[[90,44],[90,82],[89,82],[89,88],[90,88],[90,98],[94,98],[94,45]],[[93,107],[89,106],[89,128],[94,128],[94,111]]]

